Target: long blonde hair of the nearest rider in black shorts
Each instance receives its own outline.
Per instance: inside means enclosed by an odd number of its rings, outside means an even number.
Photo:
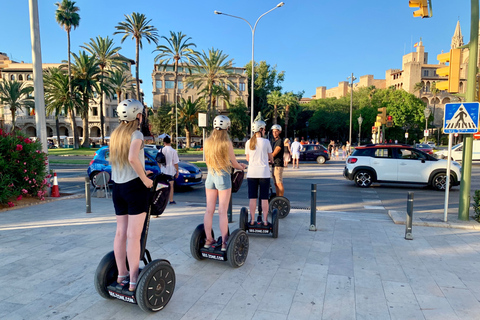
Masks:
[[[120,125],[112,132],[110,137],[110,163],[112,167],[118,170],[123,169],[128,162],[128,152],[132,133],[138,128],[139,121],[122,121]]]

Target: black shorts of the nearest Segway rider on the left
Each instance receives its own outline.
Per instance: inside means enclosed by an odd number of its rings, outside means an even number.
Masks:
[[[148,210],[149,190],[140,178],[114,183],[112,198],[117,216],[137,215]]]

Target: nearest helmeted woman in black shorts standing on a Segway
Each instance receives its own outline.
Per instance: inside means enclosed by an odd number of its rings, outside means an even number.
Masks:
[[[117,114],[120,125],[110,140],[112,164],[113,205],[117,230],[113,242],[118,276],[117,287],[129,285],[130,292],[137,286],[140,264],[140,237],[148,208],[149,188],[153,181],[145,171],[143,134],[139,131],[143,117],[143,104],[134,99],[119,103]],[[127,262],[130,274],[127,271]]]

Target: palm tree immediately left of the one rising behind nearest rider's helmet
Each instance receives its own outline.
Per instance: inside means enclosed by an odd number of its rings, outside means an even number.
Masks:
[[[105,75],[105,69],[121,69],[125,70],[123,62],[126,59],[122,58],[118,54],[121,47],[115,47],[113,39],[108,36],[102,38],[98,36],[96,39],[90,38],[90,43],[85,43],[81,48],[87,50],[93,55],[100,67],[100,132],[102,137],[102,145],[105,144],[105,119],[103,117],[103,79]],[[119,100],[120,101],[120,100]]]

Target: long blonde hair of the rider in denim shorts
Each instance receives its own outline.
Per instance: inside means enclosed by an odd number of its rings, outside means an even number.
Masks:
[[[221,174],[222,171],[230,172],[231,163],[228,154],[230,144],[227,130],[213,130],[210,137],[205,140],[204,150],[207,167],[217,174]]]

